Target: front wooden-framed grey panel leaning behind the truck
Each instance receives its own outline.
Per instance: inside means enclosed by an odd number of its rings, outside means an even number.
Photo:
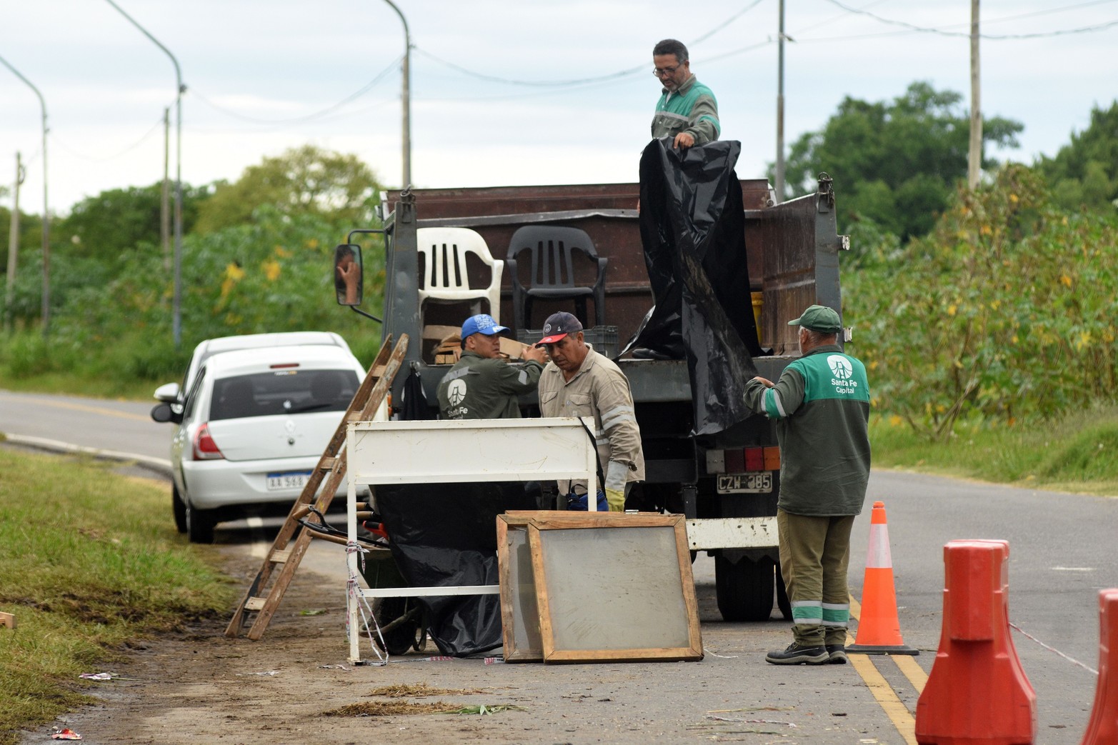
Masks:
[[[537,515],[528,543],[546,662],[702,659],[682,515]]]

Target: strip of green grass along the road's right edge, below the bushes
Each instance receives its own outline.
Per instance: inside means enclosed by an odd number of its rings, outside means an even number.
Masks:
[[[1016,487],[1118,496],[1118,408],[1095,408],[1043,425],[964,422],[946,441],[918,435],[899,417],[870,422],[873,465]]]

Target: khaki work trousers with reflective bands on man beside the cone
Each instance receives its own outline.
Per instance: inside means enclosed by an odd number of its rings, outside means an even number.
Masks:
[[[846,567],[854,516],[817,517],[778,509],[776,525],[796,642],[805,647],[846,643]]]

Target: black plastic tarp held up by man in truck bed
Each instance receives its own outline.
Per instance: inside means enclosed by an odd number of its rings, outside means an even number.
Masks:
[[[641,155],[641,239],[655,307],[629,347],[686,357],[694,434],[750,416],[741,400],[757,375],[741,186],[733,140],[675,150],[653,140]]]

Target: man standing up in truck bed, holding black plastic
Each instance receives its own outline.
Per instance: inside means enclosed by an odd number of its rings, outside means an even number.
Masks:
[[[652,74],[663,86],[652,136],[672,138],[672,147],[688,149],[718,139],[718,102],[713,92],[691,74],[688,48],[675,39],[664,39],[652,49]]]

